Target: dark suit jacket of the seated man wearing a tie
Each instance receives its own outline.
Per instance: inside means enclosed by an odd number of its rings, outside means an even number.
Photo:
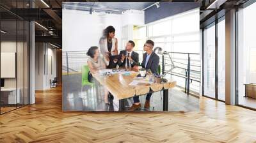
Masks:
[[[122,57],[123,54],[124,54],[124,56],[127,56],[127,50],[122,50],[122,51],[120,51],[120,54],[119,54],[120,57]],[[131,52],[131,58],[132,58],[132,60],[133,60],[132,63],[131,63],[131,61],[130,61],[131,67],[133,67],[133,66],[135,66],[135,65],[138,65],[138,63],[139,63],[139,54],[138,54],[137,52],[132,51],[132,52]],[[126,59],[127,59],[127,57],[125,57],[125,59],[124,59],[123,62],[121,61],[121,59],[119,59],[119,60],[118,60],[118,63],[117,63],[118,66],[124,68],[124,67],[125,67],[125,63],[126,63]]]

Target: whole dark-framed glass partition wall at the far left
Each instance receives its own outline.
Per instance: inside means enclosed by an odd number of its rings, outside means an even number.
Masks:
[[[12,5],[25,8],[25,2]],[[0,8],[0,29],[0,114],[4,114],[29,104],[29,22]]]

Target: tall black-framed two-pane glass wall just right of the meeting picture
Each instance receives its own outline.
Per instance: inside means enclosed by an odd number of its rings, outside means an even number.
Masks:
[[[225,102],[225,16],[203,31],[203,96]]]

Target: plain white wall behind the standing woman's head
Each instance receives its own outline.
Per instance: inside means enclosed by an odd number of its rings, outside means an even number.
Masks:
[[[115,37],[118,39],[118,49],[121,47],[122,26],[127,24],[143,25],[144,12],[129,10],[122,15],[93,13],[89,11],[63,10],[62,50],[81,51],[93,45],[99,45],[102,31],[108,26],[115,27]]]

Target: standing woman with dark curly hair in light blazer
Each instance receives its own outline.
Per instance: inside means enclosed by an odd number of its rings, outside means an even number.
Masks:
[[[100,38],[99,46],[100,52],[105,57],[105,59],[110,59],[109,56],[117,55],[117,39],[115,38],[115,28],[113,26],[108,26],[103,31],[103,36]],[[106,60],[105,60],[106,61]],[[107,63],[108,68],[116,68],[118,59],[114,59]]]

